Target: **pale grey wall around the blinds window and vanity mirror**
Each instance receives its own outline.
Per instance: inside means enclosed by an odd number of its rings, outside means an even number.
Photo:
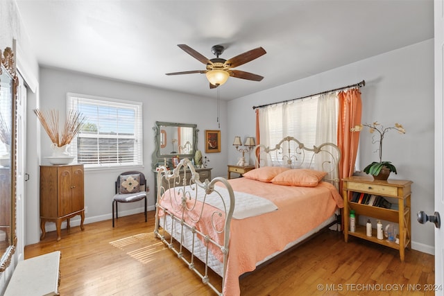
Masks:
[[[66,110],[66,94],[74,92],[91,96],[119,98],[143,103],[143,130],[144,130],[144,167],[137,168],[142,171],[151,190],[148,193],[148,207],[154,209],[154,174],[151,172],[151,155],[154,150],[155,121],[170,121],[179,123],[196,123],[198,127],[198,149],[210,159],[212,177],[226,175],[227,159],[227,122],[221,121],[221,153],[205,154],[205,130],[218,130],[216,122],[216,99],[203,98],[167,92],[127,82],[108,80],[83,73],[74,73],[60,69],[40,69],[40,108],[42,110],[60,110],[60,119]],[[227,118],[227,102],[221,101],[221,118]],[[205,111],[204,111],[205,110]],[[29,117],[35,114],[28,114]],[[64,120],[64,118],[63,118]],[[42,164],[48,164],[45,156],[51,155],[51,141],[41,129]],[[126,170],[128,171],[128,170]],[[114,181],[122,169],[96,170],[85,172],[85,223],[112,218],[112,196],[114,195]],[[119,204],[119,216],[134,214],[143,211],[142,202]],[[35,209],[38,214],[38,209]],[[37,217],[37,216],[36,216]],[[73,225],[80,220],[74,218]],[[55,229],[53,223],[46,223],[48,229]],[[110,223],[111,226],[111,223]],[[65,224],[62,224],[65,227]]]

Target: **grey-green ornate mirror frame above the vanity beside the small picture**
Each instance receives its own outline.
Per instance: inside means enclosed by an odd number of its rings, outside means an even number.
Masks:
[[[190,151],[190,154],[180,154],[180,153],[167,153],[162,154],[160,149],[162,148],[162,144],[165,144],[165,141],[168,141],[167,138],[169,137],[168,132],[162,131],[162,126],[164,127],[177,127],[177,128],[192,128],[193,129],[193,143],[192,143],[192,149]],[[155,149],[153,152],[152,158],[152,168],[155,168],[158,163],[164,163],[164,159],[167,159],[167,162],[169,163],[169,166],[172,168],[172,157],[179,156],[180,159],[182,158],[189,158],[192,159],[194,157],[194,153],[197,150],[197,125],[196,124],[189,124],[189,123],[172,123],[172,122],[163,122],[163,121],[156,121],[155,126],[153,127],[153,130],[155,131]],[[164,139],[162,139],[164,137]],[[162,141],[163,140],[163,141]],[[179,151],[177,151],[179,152]]]

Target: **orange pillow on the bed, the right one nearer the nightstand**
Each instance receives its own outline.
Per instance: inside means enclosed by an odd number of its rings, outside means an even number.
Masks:
[[[319,181],[325,177],[327,173],[307,168],[297,168],[289,171],[284,171],[271,180],[273,184],[286,186],[303,186],[314,187],[318,186]]]

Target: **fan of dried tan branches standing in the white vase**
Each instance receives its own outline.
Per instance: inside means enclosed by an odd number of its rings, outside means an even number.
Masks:
[[[37,115],[40,123],[42,123],[42,126],[46,131],[46,134],[48,134],[49,139],[51,139],[53,143],[56,143],[58,147],[71,143],[86,120],[86,117],[79,112],[69,110],[67,120],[65,121],[62,133],[60,134],[58,110],[42,111],[35,109],[34,113]]]

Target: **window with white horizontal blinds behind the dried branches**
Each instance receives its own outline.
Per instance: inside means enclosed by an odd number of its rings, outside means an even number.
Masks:
[[[71,143],[79,164],[85,168],[143,164],[142,103],[68,93],[67,107],[86,117]]]

